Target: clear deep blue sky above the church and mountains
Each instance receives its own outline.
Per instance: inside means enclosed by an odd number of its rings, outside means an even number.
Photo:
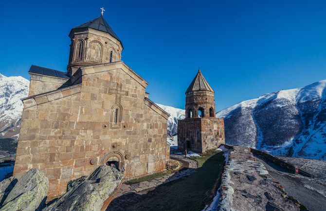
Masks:
[[[1,0],[0,73],[65,71],[71,28],[102,6],[157,103],[184,108],[198,66],[217,111],[326,79],[325,0]]]

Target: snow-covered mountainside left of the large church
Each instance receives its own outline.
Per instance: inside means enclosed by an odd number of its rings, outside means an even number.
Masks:
[[[0,74],[0,138],[17,139],[23,110],[21,98],[28,96],[29,81]]]

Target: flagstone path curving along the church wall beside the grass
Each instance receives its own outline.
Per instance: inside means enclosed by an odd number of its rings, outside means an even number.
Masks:
[[[189,163],[189,167],[188,169],[184,170],[184,171],[177,171],[171,175],[167,175],[161,178],[156,178],[156,179],[152,179],[149,181],[144,181],[144,182],[140,182],[140,183],[134,183],[131,185],[127,185],[127,184],[122,184],[118,194],[115,197],[119,197],[121,195],[130,193],[130,192],[141,192],[141,191],[145,191],[147,189],[150,188],[154,188],[156,186],[159,186],[161,184],[170,182],[170,181],[174,181],[176,179],[180,179],[186,176],[189,176],[190,174],[196,172],[196,168],[197,168],[197,162],[188,158],[184,158],[183,155],[170,155],[170,158],[175,158],[175,159],[179,159],[185,162]]]

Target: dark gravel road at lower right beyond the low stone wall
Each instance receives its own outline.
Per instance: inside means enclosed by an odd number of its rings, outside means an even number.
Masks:
[[[293,175],[282,168],[275,166],[271,162],[255,157],[259,162],[262,162],[267,168],[270,175],[277,179],[284,187],[284,189],[303,205],[309,211],[325,210],[326,205],[326,181],[307,178],[301,175]]]

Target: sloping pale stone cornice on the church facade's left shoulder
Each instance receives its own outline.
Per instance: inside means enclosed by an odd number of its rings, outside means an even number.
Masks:
[[[80,93],[81,84],[65,87],[39,95],[22,98],[24,109]]]

